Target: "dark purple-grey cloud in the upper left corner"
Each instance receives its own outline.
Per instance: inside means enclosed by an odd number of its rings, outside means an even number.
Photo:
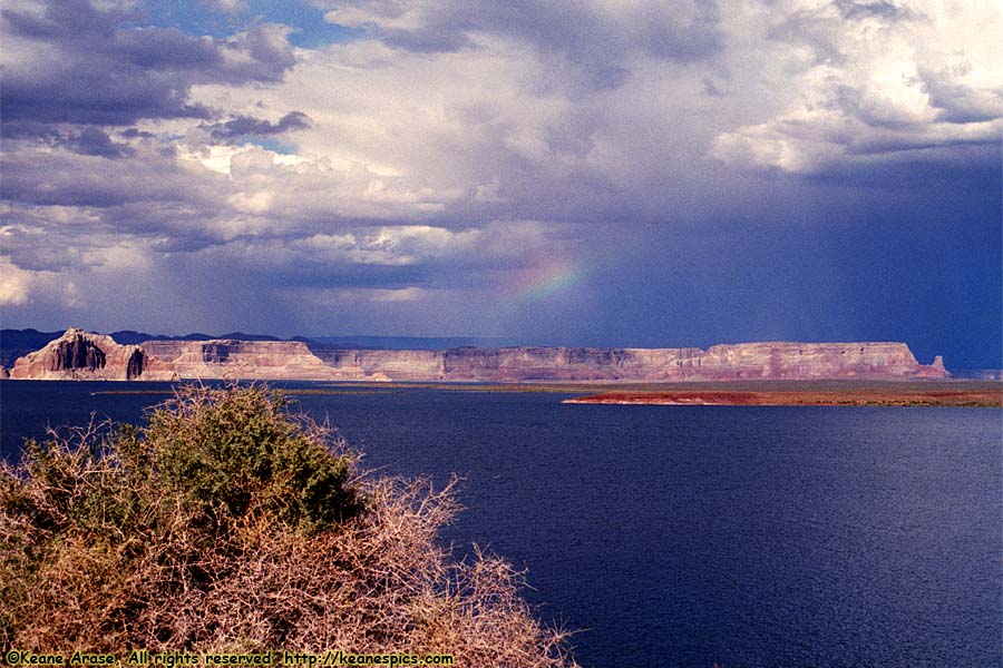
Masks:
[[[176,29],[127,28],[120,11],[51,0],[45,12],[2,12],[2,33],[45,51],[31,68],[4,71],[4,122],[129,125],[144,118],[202,118],[195,84],[273,82],[295,61],[288,29],[263,23],[227,39]]]

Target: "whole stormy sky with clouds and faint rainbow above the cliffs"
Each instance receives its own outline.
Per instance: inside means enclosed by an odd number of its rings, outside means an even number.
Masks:
[[[4,0],[0,323],[999,369],[997,0]]]

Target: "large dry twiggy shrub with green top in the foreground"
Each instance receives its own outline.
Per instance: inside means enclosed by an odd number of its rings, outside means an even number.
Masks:
[[[522,574],[437,542],[454,484],[367,474],[262,386],[181,387],[0,465],[0,646],[452,654],[573,666]]]

